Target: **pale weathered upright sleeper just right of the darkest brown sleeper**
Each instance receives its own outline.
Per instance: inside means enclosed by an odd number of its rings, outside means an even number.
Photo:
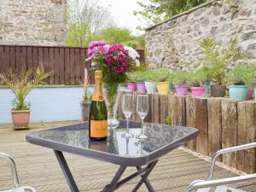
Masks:
[[[220,98],[209,98],[208,108],[208,154],[212,156],[221,149],[221,100]]]

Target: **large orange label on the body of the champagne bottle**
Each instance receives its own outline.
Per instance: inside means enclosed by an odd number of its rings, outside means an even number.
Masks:
[[[90,120],[90,137],[108,137],[108,120]]]

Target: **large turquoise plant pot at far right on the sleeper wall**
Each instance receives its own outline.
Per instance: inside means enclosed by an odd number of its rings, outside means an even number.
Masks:
[[[247,99],[246,85],[230,85],[230,98],[237,101],[245,101]]]

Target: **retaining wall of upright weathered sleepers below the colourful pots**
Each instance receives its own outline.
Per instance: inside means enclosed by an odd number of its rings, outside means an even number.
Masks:
[[[135,97],[137,93],[134,93]],[[256,102],[236,102],[228,98],[164,96],[149,94],[146,121],[186,125],[199,130],[199,136],[187,147],[201,154],[212,155],[221,148],[256,142]],[[120,105],[119,105],[120,106]],[[123,118],[118,110],[119,118]],[[132,119],[139,120],[137,114]],[[220,159],[243,172],[256,172],[256,150],[224,154]]]

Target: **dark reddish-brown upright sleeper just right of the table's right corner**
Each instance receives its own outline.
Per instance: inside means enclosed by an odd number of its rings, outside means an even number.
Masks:
[[[196,98],[195,127],[199,134],[196,137],[196,151],[208,154],[208,121],[207,121],[207,98]]]

